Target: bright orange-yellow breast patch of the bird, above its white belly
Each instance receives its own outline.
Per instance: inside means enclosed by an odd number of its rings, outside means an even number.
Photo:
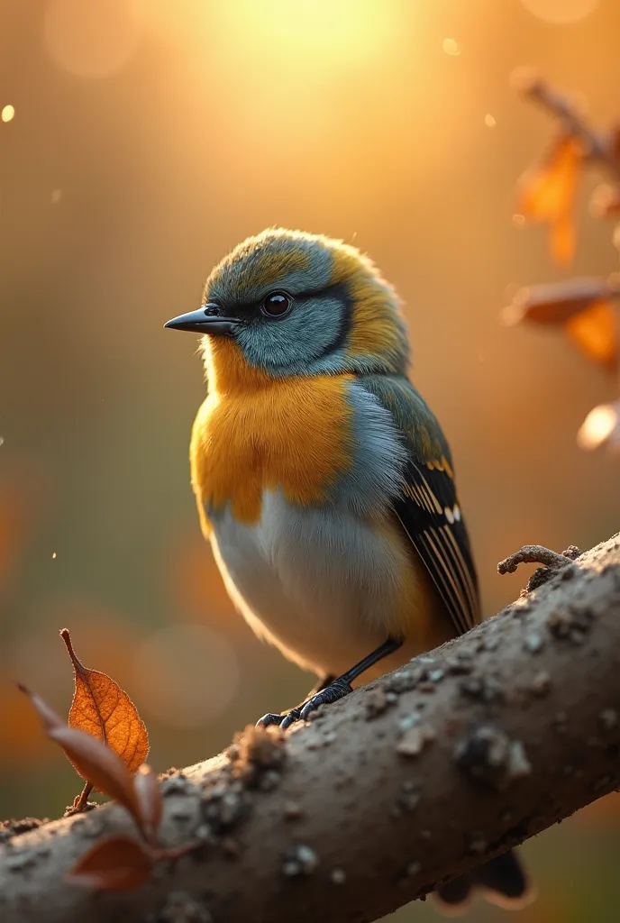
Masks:
[[[237,520],[258,521],[265,489],[280,487],[287,500],[301,505],[327,497],[351,464],[352,409],[346,402],[351,378],[271,378],[257,390],[210,391],[190,445],[192,485],[206,534],[207,509],[227,503]]]

